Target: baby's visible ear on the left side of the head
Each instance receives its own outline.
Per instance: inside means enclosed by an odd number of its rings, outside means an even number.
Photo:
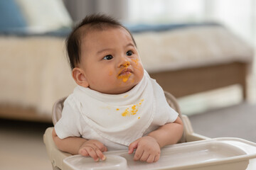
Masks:
[[[73,79],[75,80],[75,82],[79,86],[83,86],[83,87],[89,86],[89,83],[85,77],[85,72],[82,69],[75,67],[72,71],[72,76],[73,76]]]

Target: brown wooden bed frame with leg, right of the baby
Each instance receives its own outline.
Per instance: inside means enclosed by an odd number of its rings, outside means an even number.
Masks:
[[[233,84],[240,84],[242,96],[247,98],[248,64],[233,62],[208,67],[181,69],[171,72],[149,73],[153,79],[176,98],[218,89]]]

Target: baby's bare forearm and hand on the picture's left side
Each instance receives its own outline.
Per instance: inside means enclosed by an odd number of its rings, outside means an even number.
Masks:
[[[61,140],[53,129],[53,141],[58,149],[63,152],[90,156],[95,159],[95,161],[98,161],[99,159],[106,159],[102,152],[106,152],[107,147],[97,140],[85,140],[82,137],[66,137]]]

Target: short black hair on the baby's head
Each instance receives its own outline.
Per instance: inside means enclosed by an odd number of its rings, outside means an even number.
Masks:
[[[121,23],[114,20],[110,16],[105,16],[102,14],[93,14],[90,16],[86,16],[80,23],[78,23],[68,35],[66,40],[66,47],[68,51],[68,58],[70,62],[71,69],[74,69],[80,63],[80,55],[81,55],[81,42],[82,38],[90,33],[91,30],[105,30],[107,28],[118,28],[122,27],[127,30]],[[132,34],[127,30],[128,33]],[[134,45],[136,43],[134,38],[132,37]]]

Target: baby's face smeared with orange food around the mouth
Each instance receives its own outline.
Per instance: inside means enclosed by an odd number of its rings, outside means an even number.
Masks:
[[[94,30],[81,43],[80,69],[90,89],[122,94],[142,80],[144,69],[131,35],[124,28]]]

